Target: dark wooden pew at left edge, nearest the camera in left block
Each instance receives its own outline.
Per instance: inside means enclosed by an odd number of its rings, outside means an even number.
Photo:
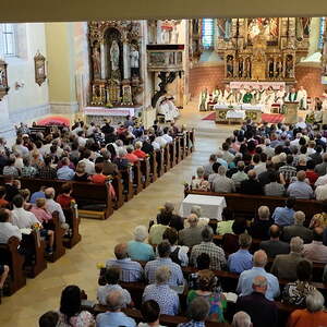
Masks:
[[[8,295],[13,294],[26,284],[26,277],[23,270],[24,256],[19,253],[20,240],[12,237],[7,244],[0,244],[1,262],[10,268],[8,278]]]

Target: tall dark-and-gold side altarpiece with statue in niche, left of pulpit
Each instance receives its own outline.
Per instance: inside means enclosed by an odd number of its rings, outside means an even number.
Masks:
[[[90,105],[140,105],[141,24],[137,21],[88,23]]]

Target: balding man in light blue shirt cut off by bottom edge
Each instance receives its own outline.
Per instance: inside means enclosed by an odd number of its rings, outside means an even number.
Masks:
[[[108,311],[97,315],[97,327],[135,327],[135,320],[121,312],[123,303],[124,296],[121,291],[112,291],[107,296]]]

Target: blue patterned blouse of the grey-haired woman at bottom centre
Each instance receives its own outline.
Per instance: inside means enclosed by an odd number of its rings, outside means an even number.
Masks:
[[[148,300],[154,300],[159,304],[161,315],[174,316],[179,313],[179,295],[169,284],[148,284],[144,289],[143,302]]]

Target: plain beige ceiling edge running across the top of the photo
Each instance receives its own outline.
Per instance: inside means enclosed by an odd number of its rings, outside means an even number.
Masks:
[[[326,0],[3,0],[0,22],[325,16]]]

